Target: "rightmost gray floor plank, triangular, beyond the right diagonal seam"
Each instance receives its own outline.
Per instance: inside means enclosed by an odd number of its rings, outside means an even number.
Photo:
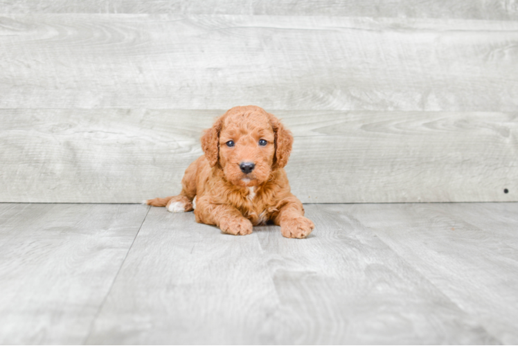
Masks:
[[[518,343],[518,203],[346,210],[504,345]]]

